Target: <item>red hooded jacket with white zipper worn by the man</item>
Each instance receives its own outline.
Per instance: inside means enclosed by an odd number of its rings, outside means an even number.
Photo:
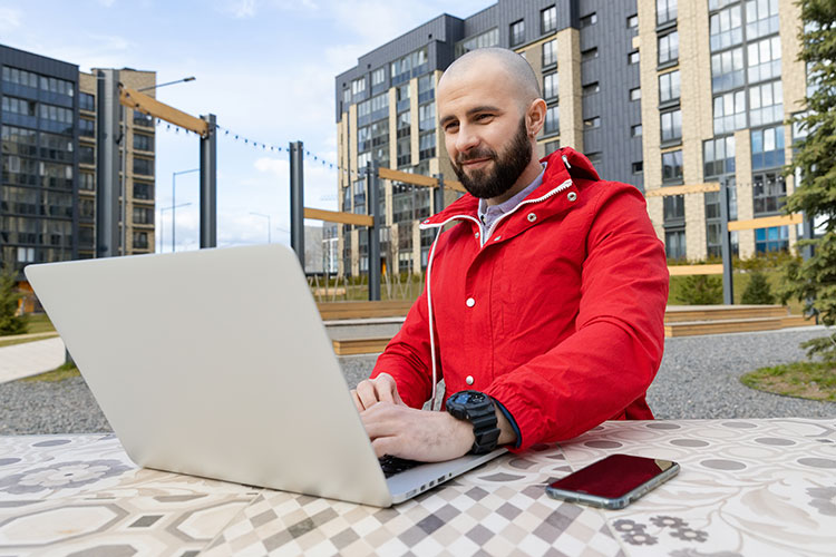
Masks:
[[[543,160],[543,184],[484,245],[470,195],[421,224],[457,222],[428,270],[439,379],[448,394],[475,389],[505,405],[518,450],[607,419],[652,419],[644,395],[664,348],[668,267],[644,197],[599,179],[571,148]],[[430,398],[426,289],[372,377],[381,372],[410,407]]]

